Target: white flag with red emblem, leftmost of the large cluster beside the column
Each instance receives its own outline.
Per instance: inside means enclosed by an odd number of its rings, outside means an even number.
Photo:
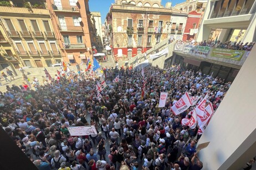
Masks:
[[[190,95],[188,94],[188,92],[186,92],[181,98],[180,100],[178,100],[173,106],[172,106],[172,112],[175,115],[178,115],[180,113],[182,113],[183,111],[187,110],[188,108],[190,108],[192,105],[192,101],[190,99]]]

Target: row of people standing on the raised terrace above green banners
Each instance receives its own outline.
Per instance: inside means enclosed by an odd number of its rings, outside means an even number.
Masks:
[[[197,42],[193,39],[191,40],[180,40],[177,42],[178,44],[184,44],[184,45],[200,45],[200,46],[209,46],[209,47],[216,47],[221,49],[231,49],[231,50],[244,50],[244,51],[250,51],[252,50],[253,46],[255,45],[255,42],[232,42],[232,41],[201,41]]]

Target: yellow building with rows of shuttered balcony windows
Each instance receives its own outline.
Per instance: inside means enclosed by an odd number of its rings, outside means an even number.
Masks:
[[[0,3],[1,54],[18,67],[45,67],[62,62],[45,1]],[[15,60],[15,61],[14,61]],[[5,67],[5,66],[4,66]]]

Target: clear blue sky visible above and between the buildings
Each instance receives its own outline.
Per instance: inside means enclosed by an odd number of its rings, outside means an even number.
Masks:
[[[185,2],[186,0],[162,0],[161,4],[165,6],[167,2],[172,2],[172,6],[175,6],[177,3]],[[115,0],[89,0],[90,12],[100,12],[101,22],[104,24],[106,14],[109,12],[109,7],[111,3],[114,3]]]

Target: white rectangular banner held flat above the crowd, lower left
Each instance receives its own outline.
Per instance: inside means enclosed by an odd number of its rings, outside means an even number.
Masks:
[[[95,126],[69,126],[69,134],[71,136],[84,136],[98,134]]]

